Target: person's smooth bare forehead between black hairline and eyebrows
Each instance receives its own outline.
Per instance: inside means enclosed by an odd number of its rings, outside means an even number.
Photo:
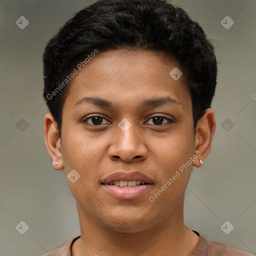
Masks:
[[[108,50],[97,53],[71,79],[65,104],[73,106],[82,97],[100,97],[135,105],[145,98],[170,96],[186,105],[190,101],[185,77],[169,74],[182,68],[162,52]],[[175,77],[175,76],[174,76]]]

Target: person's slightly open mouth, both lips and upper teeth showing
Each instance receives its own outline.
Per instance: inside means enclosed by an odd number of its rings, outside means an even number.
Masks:
[[[140,172],[115,172],[101,182],[108,195],[116,199],[136,199],[151,189],[153,182]]]

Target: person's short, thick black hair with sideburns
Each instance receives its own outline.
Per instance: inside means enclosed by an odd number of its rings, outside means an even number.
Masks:
[[[166,0],[99,0],[75,13],[43,52],[43,97],[57,122],[59,137],[67,76],[95,49],[118,48],[161,51],[180,64],[195,128],[211,106],[217,76],[214,48],[203,29]]]

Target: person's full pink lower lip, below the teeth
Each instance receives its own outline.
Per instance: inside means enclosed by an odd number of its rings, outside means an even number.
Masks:
[[[108,194],[110,194],[111,196],[117,199],[132,200],[148,192],[151,186],[152,184],[121,187],[121,186],[104,184],[103,188],[108,192]]]

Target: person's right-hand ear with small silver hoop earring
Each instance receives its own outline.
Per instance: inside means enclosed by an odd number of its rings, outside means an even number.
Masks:
[[[214,111],[211,108],[207,108],[195,127],[194,151],[197,152],[198,158],[196,161],[193,161],[194,167],[200,167],[200,160],[204,161],[210,152],[215,129]]]

